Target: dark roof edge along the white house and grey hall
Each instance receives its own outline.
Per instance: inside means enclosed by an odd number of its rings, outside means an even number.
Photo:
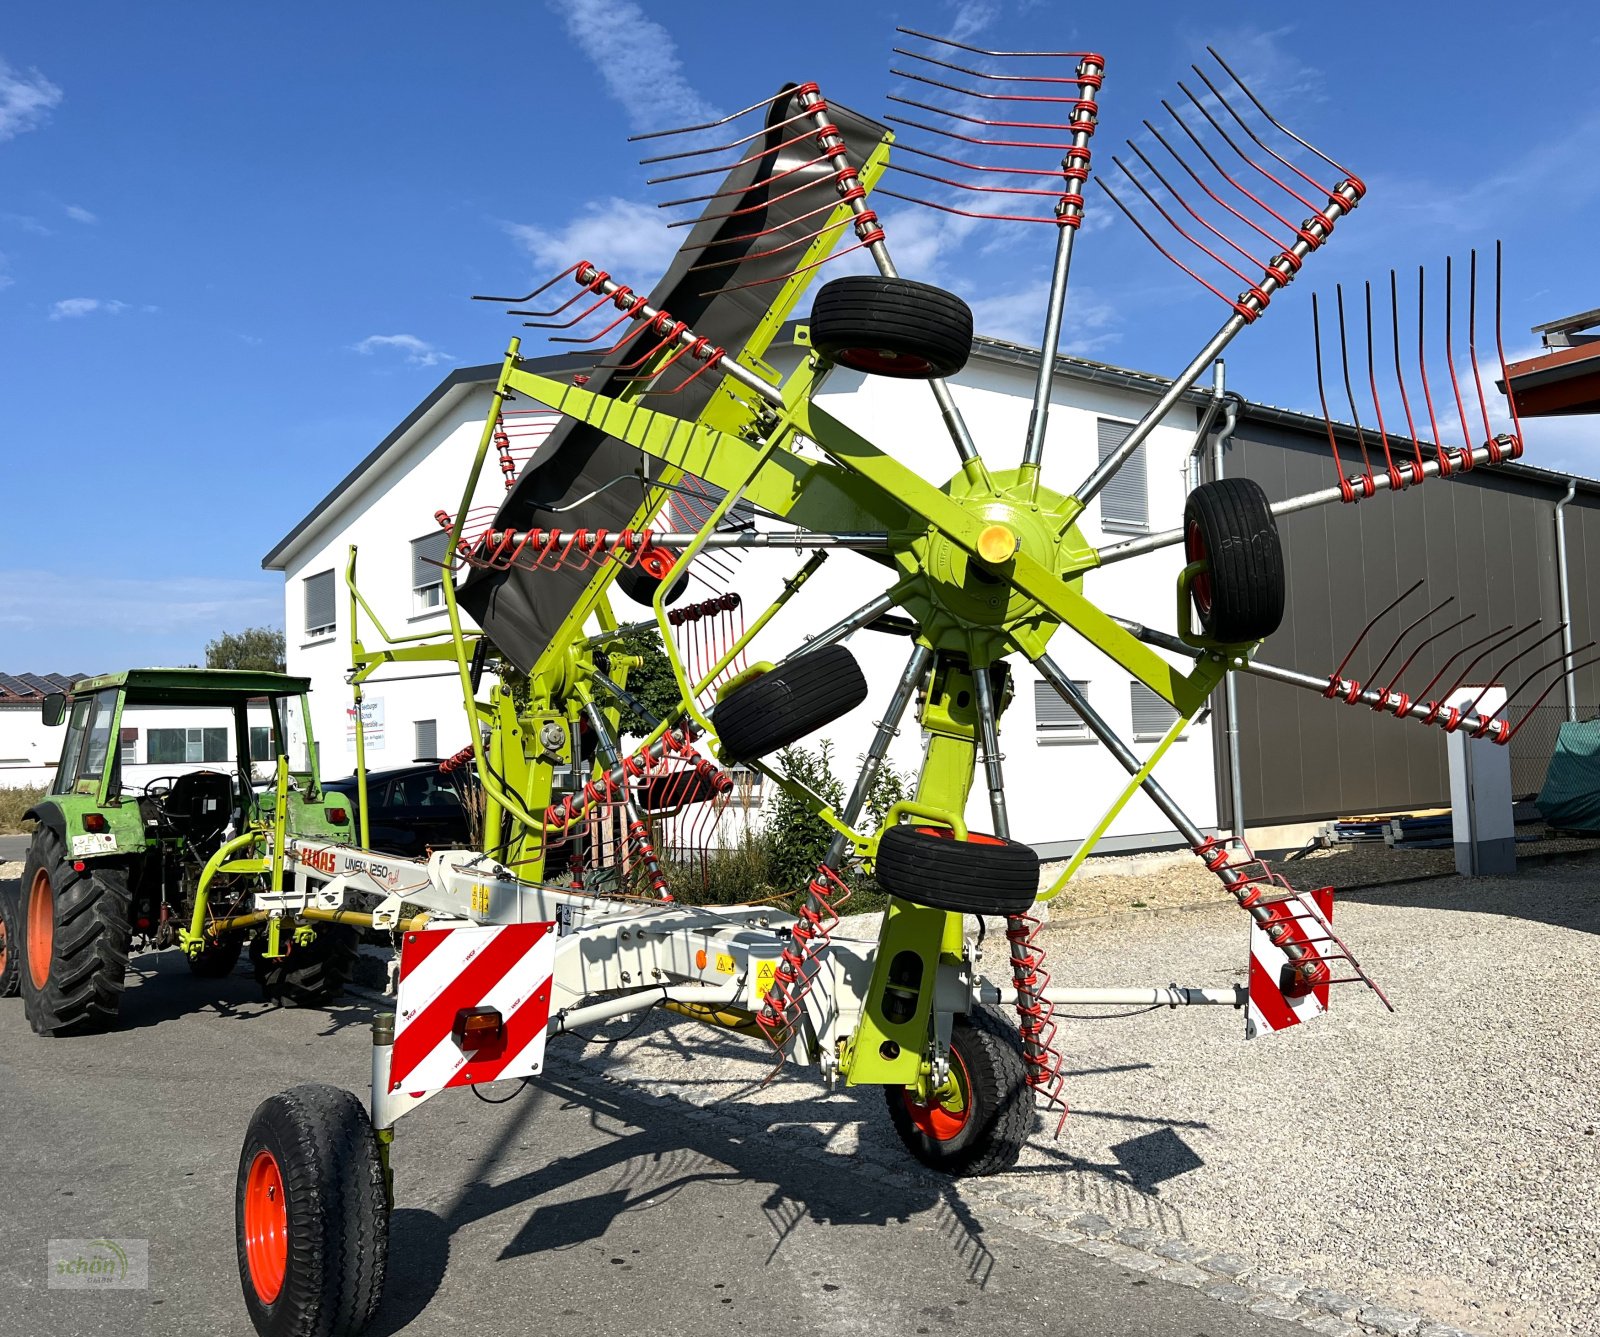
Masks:
[[[789,334],[797,321],[789,321],[779,333],[774,345],[789,342]],[[987,334],[973,336],[973,357],[986,361],[1010,363],[1014,366],[1038,366],[1040,350],[1027,344],[1018,344],[1010,339],[995,339]],[[587,366],[586,358],[573,353],[560,353],[555,357],[530,358],[523,365],[542,374],[555,376],[563,371],[582,369]],[[494,382],[499,377],[501,363],[485,363],[482,366],[462,366],[451,371],[443,381],[435,385],[429,395],[405,416],[405,419],[384,437],[366,456],[341,478],[328,494],[317,502],[301,520],[290,529],[272,550],[261,558],[261,565],[267,571],[282,571],[286,566],[285,553],[294,545],[294,542],[312,529],[318,520],[323,518],[330,510],[333,510],[339,499],[355,485],[360,478],[376,467],[386,454],[402,445],[403,438],[413,427],[416,427],[422,419],[426,419],[440,405],[459,398],[461,395],[472,390],[475,385],[485,382]],[[1512,368],[1515,373],[1515,368]],[[1170,377],[1157,376],[1149,371],[1134,371],[1126,366],[1115,366],[1107,361],[1094,361],[1093,358],[1070,357],[1067,353],[1056,355],[1056,374],[1069,376],[1077,381],[1088,381],[1091,384],[1109,385],[1120,390],[1133,390],[1142,395],[1160,395],[1173,382]],[[1197,385],[1184,393],[1182,401],[1192,405],[1203,405],[1211,398],[1211,390],[1206,385]],[[1328,424],[1320,417],[1312,417],[1306,413],[1298,413],[1294,409],[1277,408],[1274,405],[1256,403],[1253,400],[1238,398],[1240,417],[1245,421],[1267,422],[1275,427],[1283,427],[1291,432],[1310,433],[1312,437],[1326,438]],[[1518,400],[1520,405],[1520,400]],[[1334,435],[1342,441],[1357,441],[1357,429],[1346,422],[1333,422]],[[1411,448],[1410,440],[1400,437],[1389,438],[1394,446]],[[1432,449],[1432,445],[1424,443],[1424,449]],[[1528,480],[1544,481],[1550,485],[1558,485],[1565,489],[1566,481],[1571,475],[1555,473],[1549,469],[1539,469],[1531,464],[1506,464],[1501,465],[1502,470],[1512,475],[1518,475]],[[1590,478],[1576,478],[1578,485],[1584,491],[1600,493],[1600,481]]]

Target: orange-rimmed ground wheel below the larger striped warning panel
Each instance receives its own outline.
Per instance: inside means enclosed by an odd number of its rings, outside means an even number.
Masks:
[[[261,1337],[334,1337],[373,1321],[389,1262],[389,1199],[360,1100],[307,1084],[256,1108],[238,1156],[234,1236]]]

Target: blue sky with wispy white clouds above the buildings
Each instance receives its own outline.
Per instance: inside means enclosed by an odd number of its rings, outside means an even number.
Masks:
[[[882,114],[896,22],[1104,51],[1098,171],[1210,42],[1365,178],[1368,202],[1229,352],[1250,398],[1314,408],[1307,288],[1387,281],[1496,235],[1512,357],[1534,344],[1528,326],[1600,305],[1592,3],[1515,24],[1486,3],[1448,22],[1392,3],[1293,22],[1243,5],[1062,10],[10,6],[0,668],[194,662],[219,630],[280,622],[262,553],[451,366],[498,360],[518,333],[472,293],[533,286],[579,256],[638,288],[659,273],[675,238],[630,131],[782,80]],[[1066,350],[1178,371],[1226,310],[1104,197],[1090,210]],[[981,331],[1037,342],[1051,229],[883,213],[907,277],[960,291]],[[1531,425],[1528,456],[1600,473],[1581,419]]]

